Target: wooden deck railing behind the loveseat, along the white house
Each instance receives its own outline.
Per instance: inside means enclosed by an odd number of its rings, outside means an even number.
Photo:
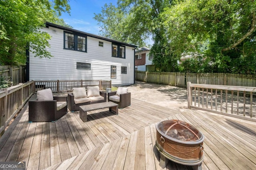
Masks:
[[[52,92],[71,92],[74,87],[99,86],[99,88],[111,88],[111,80],[34,80],[34,92],[51,88]]]

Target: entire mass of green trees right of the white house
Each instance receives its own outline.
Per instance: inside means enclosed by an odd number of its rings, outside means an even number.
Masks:
[[[203,59],[191,60],[198,65],[193,72],[255,73],[254,0],[118,0],[104,14],[98,22],[106,36],[141,46],[152,35],[153,62],[161,71],[182,71],[180,58],[196,54]],[[122,21],[110,29],[115,17]]]

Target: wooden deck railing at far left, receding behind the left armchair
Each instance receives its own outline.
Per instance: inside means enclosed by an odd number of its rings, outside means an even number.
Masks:
[[[0,91],[0,136],[33,94],[34,82],[20,83]]]

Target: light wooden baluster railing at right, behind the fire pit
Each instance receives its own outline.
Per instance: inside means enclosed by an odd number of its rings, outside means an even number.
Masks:
[[[188,108],[256,121],[256,87],[191,84]]]

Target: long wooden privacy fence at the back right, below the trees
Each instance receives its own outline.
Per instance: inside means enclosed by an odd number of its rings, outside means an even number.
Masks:
[[[256,75],[230,73],[182,73],[182,72],[145,72],[136,71],[136,80],[187,87],[194,84],[213,84],[226,86],[256,87]]]

